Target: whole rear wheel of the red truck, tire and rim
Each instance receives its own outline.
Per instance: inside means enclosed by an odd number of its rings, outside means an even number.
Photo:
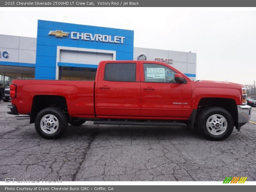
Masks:
[[[59,108],[44,108],[36,115],[36,132],[45,139],[57,139],[67,127],[68,118]]]

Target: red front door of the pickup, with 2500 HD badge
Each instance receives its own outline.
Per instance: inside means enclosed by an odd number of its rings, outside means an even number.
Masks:
[[[167,64],[141,61],[141,117],[185,118],[191,109],[191,85],[176,83]]]

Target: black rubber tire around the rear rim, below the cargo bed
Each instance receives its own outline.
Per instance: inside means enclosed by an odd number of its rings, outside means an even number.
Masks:
[[[46,115],[53,115],[57,118],[57,121],[59,123],[58,127],[56,128],[56,131],[53,133],[46,133],[41,129],[41,119]],[[55,118],[54,118],[55,119]],[[56,120],[56,119],[55,119]],[[68,117],[67,115],[59,108],[44,108],[42,109],[35,118],[35,128],[36,132],[45,139],[57,139],[62,135],[68,128]],[[51,129],[51,128],[50,128]],[[50,130],[49,129],[49,130]],[[54,129],[54,127],[53,127]],[[47,131],[47,130],[46,130]]]

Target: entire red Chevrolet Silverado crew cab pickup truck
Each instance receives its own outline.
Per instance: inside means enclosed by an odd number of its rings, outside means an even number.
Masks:
[[[101,61],[95,81],[13,80],[9,114],[30,119],[46,139],[85,121],[108,125],[188,126],[223,140],[250,120],[241,84],[192,81],[155,61]]]

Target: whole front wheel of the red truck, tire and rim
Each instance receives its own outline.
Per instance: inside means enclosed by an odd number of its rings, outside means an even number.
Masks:
[[[209,107],[198,116],[198,130],[208,140],[226,139],[234,129],[234,120],[224,108]]]

